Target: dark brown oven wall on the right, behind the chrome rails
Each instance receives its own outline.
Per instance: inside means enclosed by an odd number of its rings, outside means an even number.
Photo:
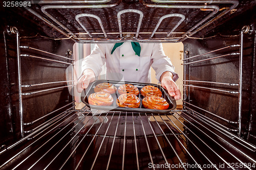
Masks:
[[[240,31],[243,26],[250,26],[250,32],[244,34],[243,64],[242,64],[242,137],[255,143],[255,7],[234,17],[230,21],[205,33],[204,39],[187,39],[184,41],[184,52],[187,57],[216,50],[228,45],[240,44]],[[209,37],[209,38],[207,38]],[[215,53],[210,53],[188,62],[231,53],[239,53],[239,47],[230,47]],[[239,83],[239,55],[230,55],[184,66],[185,80],[201,80],[222,83]],[[225,86],[207,83],[187,83],[195,86],[217,88],[228,91],[238,91],[238,86]],[[230,121],[238,121],[238,94],[186,87],[185,102],[193,104]],[[237,130],[237,124],[227,123],[201,109],[184,103],[186,107],[200,112],[228,128]],[[238,133],[233,131],[233,133]]]

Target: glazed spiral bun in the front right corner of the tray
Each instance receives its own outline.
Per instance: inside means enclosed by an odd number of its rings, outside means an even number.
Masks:
[[[153,95],[153,96],[146,96],[142,100],[142,105],[146,109],[159,109],[159,110],[166,110],[169,107],[169,104],[166,102],[165,99]]]

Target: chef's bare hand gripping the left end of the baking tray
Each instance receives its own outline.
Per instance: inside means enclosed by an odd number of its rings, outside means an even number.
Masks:
[[[83,71],[83,75],[80,77],[76,84],[76,89],[80,93],[83,89],[86,89],[89,86],[89,83],[95,81],[95,74],[92,69],[86,69]]]

